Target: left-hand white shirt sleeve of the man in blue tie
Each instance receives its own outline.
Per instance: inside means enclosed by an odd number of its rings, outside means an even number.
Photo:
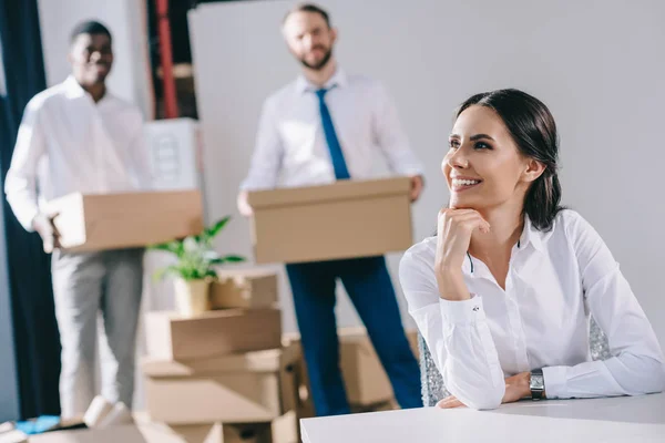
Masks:
[[[284,148],[277,128],[277,114],[270,99],[264,103],[256,134],[256,145],[243,190],[270,189],[277,186]]]

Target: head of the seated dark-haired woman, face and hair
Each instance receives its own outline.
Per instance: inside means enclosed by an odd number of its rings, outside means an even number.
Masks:
[[[468,133],[470,130],[479,132]],[[461,148],[462,143],[471,148]],[[540,101],[516,90],[473,95],[460,106],[442,165],[452,190],[451,206],[491,206],[516,198],[513,204],[523,200],[531,222],[548,230],[561,210],[557,155],[556,124]],[[469,162],[480,176],[463,175],[470,174],[466,172]],[[487,183],[478,186],[481,182]],[[469,187],[479,187],[478,193],[462,194]]]

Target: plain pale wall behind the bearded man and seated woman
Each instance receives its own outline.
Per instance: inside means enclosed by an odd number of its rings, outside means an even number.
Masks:
[[[472,93],[522,89],[548,103],[560,126],[564,203],[605,238],[665,344],[665,2],[321,3],[340,29],[341,64],[389,86],[426,163],[428,187],[413,207],[417,238],[432,233],[448,198],[439,165],[453,109]],[[236,214],[260,104],[297,74],[279,34],[290,4],[206,3],[191,12],[212,218]],[[237,216],[219,247],[250,256],[248,224]],[[397,261],[391,257],[395,280]],[[285,328],[295,329],[286,288]],[[339,316],[341,324],[357,322],[346,300]]]

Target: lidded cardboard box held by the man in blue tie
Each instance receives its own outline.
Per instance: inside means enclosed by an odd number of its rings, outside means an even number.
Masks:
[[[411,234],[410,181],[340,181],[249,193],[257,264],[369,257],[405,250]]]

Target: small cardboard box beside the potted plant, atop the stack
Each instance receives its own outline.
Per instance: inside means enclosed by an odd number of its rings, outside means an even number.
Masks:
[[[272,308],[277,303],[277,274],[266,269],[218,270],[211,286],[212,309]]]

